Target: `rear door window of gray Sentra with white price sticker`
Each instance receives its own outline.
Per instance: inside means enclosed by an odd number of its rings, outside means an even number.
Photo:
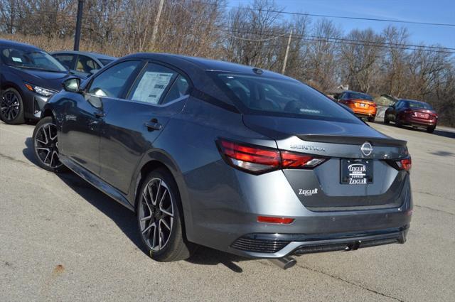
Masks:
[[[158,104],[178,73],[164,66],[149,63],[129,94],[132,101]]]

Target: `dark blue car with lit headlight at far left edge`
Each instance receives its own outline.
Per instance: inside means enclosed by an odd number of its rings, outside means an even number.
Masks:
[[[39,119],[48,99],[62,89],[69,75],[45,51],[0,40],[0,118],[8,124]]]

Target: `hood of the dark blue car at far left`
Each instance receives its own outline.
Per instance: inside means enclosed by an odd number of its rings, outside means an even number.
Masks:
[[[56,91],[62,89],[62,82],[70,76],[69,72],[48,72],[23,68],[12,69],[23,81]]]

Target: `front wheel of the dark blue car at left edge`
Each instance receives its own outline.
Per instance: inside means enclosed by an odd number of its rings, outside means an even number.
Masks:
[[[23,99],[14,88],[8,88],[1,93],[0,119],[6,124],[23,124]]]

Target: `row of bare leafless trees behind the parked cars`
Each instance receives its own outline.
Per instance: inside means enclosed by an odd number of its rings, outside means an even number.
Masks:
[[[155,23],[159,2],[85,0],[81,50],[179,53],[281,72],[290,41],[286,75],[323,92],[348,85],[421,99],[455,126],[455,50],[412,45],[405,27],[346,33],[328,18],[285,16],[273,0],[238,8],[225,0],[165,0]],[[0,0],[0,36],[48,51],[72,49],[76,14],[77,0]]]

